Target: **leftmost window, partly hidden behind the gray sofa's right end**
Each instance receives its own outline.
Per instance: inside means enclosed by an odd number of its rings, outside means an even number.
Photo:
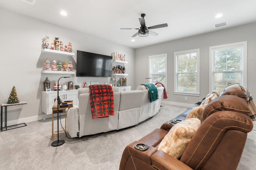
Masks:
[[[167,87],[167,54],[149,56],[148,77],[150,83],[155,84],[158,81]]]

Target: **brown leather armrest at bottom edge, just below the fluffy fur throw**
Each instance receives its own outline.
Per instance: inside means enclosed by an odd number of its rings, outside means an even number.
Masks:
[[[158,150],[152,156],[152,166],[160,170],[192,170],[188,165],[169,154]]]

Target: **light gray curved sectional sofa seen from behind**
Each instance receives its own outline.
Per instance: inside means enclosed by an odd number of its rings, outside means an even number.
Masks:
[[[150,103],[148,90],[143,85],[124,92],[112,87],[115,115],[97,119],[92,119],[89,88],[78,89],[78,106],[67,112],[68,134],[72,138],[82,137],[137,125],[159,111],[164,87],[157,84],[157,89],[159,99]]]

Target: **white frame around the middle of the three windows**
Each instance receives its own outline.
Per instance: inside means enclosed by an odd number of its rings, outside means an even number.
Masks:
[[[177,91],[177,56],[182,54],[189,54],[196,52],[196,92],[181,92]],[[200,49],[192,49],[185,51],[174,52],[174,94],[178,95],[186,95],[186,96],[200,96]]]

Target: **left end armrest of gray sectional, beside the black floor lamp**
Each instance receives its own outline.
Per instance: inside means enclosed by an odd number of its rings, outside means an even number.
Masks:
[[[67,113],[67,127],[70,137],[79,136],[79,110],[78,106],[68,109]],[[78,133],[78,134],[77,134]]]

